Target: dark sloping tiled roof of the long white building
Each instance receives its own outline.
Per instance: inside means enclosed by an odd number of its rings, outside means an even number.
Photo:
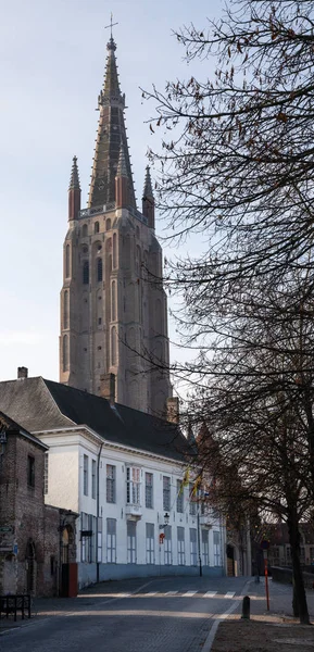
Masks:
[[[188,453],[175,424],[41,377],[0,383],[0,409],[33,432],[86,424],[109,441],[156,455],[184,461]]]

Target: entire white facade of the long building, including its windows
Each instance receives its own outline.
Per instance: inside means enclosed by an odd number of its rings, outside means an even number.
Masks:
[[[186,466],[103,441],[87,427],[37,432],[48,503],[79,513],[79,587],[97,580],[225,574],[225,528],[183,487]],[[200,560],[201,557],[201,560]]]

